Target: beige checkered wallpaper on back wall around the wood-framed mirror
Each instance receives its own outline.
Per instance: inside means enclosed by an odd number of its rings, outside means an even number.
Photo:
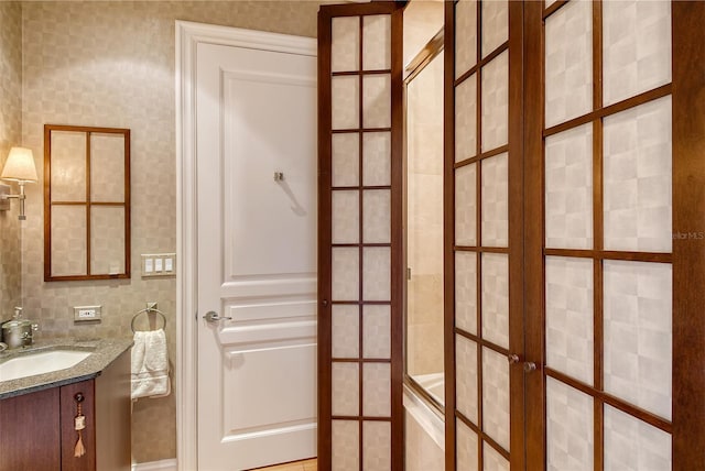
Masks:
[[[318,4],[316,1],[22,3],[22,141],[35,152],[40,179],[45,123],[132,131],[131,280],[44,283],[42,186],[29,188],[29,216],[22,238],[23,300],[28,317],[40,321],[41,336],[130,337],[132,315],[145,302],[158,302],[167,316],[173,365],[176,282],[142,280],[140,254],[176,249],[174,21],[315,36]],[[3,23],[6,10],[12,7],[0,2]],[[11,23],[17,29],[17,22]],[[3,24],[0,26],[3,48],[6,34]],[[0,67],[3,81],[0,94],[7,94],[7,65],[0,63]],[[0,121],[0,129],[4,128],[7,124]],[[4,134],[0,139],[4,140]],[[102,322],[74,325],[72,307],[94,304],[102,305]],[[176,456],[173,394],[134,404],[132,443],[137,462]]]

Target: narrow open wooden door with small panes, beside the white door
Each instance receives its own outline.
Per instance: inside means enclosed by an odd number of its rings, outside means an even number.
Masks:
[[[402,51],[394,2],[318,14],[318,467],[403,469]]]

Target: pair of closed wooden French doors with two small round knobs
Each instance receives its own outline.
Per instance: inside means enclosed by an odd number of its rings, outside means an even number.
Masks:
[[[446,469],[702,468],[704,11],[446,3]]]

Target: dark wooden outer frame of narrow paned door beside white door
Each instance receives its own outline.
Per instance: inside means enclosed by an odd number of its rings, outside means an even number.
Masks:
[[[370,3],[323,6],[318,12],[318,467],[329,469],[332,462],[332,19],[338,17],[391,17],[391,469],[401,470],[404,459],[403,408],[403,289],[404,254],[402,231],[402,149],[403,129],[403,8],[405,1],[379,1]],[[360,23],[361,24],[361,23]],[[398,32],[398,33],[395,33]],[[360,31],[361,33],[361,31]],[[362,51],[362,34],[359,37]],[[357,73],[360,76],[365,72]],[[360,89],[361,91],[361,89]],[[362,98],[359,98],[360,117]],[[358,132],[362,134],[360,128]],[[368,130],[369,131],[369,130]],[[360,138],[361,139],[361,138]],[[362,149],[360,146],[360,153]],[[361,160],[360,160],[361,163]],[[360,195],[362,194],[360,173]],[[361,205],[360,205],[361,208]],[[360,239],[358,247],[362,247]],[[362,285],[362,264],[359,266]],[[359,304],[364,302],[360,298]],[[360,340],[362,336],[360,328]],[[364,361],[360,350],[359,361]],[[360,386],[361,386],[360,375]],[[360,397],[362,388],[360,387]],[[362,410],[359,410],[360,427]],[[361,436],[360,436],[361,437]],[[362,441],[359,442],[360,467]]]

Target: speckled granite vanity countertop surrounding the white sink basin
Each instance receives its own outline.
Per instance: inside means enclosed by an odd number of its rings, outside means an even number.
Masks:
[[[0,381],[0,399],[97,377],[131,346],[131,338],[101,340],[46,339],[24,349],[6,350],[0,353],[0,363],[18,355],[50,350],[82,350],[93,353],[72,368],[17,380]]]

